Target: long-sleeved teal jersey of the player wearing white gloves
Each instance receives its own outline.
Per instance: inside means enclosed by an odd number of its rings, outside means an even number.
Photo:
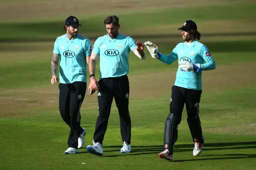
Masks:
[[[202,71],[215,69],[215,61],[210,54],[206,45],[194,41],[188,46],[186,42],[178,43],[169,55],[158,53],[158,59],[166,64],[171,64],[176,59],[178,63],[182,60],[190,61],[192,63],[201,64],[201,71],[194,73],[192,71],[181,71],[178,68],[176,73],[175,84],[179,87],[187,89],[202,90]],[[204,61],[206,63],[204,63]]]

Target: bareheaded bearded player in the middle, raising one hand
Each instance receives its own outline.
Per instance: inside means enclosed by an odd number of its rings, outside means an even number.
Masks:
[[[117,16],[108,16],[104,24],[108,34],[99,37],[94,43],[89,63],[90,85],[93,90],[98,90],[99,115],[93,136],[93,145],[88,145],[86,149],[89,153],[98,156],[103,155],[102,142],[108,126],[113,98],[118,108],[122,141],[124,142],[120,152],[131,152],[128,57],[132,51],[140,59],[146,58],[142,42],[134,42],[131,37],[118,32],[120,24]],[[98,56],[100,56],[100,78],[97,82],[94,71]]]

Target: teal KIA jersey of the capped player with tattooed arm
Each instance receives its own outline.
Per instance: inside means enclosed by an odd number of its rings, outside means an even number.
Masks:
[[[86,55],[91,55],[90,40],[80,34],[69,40],[60,36],[54,43],[53,53],[60,54],[60,83],[86,82]]]

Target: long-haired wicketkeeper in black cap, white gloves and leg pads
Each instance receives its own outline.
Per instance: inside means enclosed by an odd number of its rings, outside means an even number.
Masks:
[[[166,160],[172,160],[184,104],[186,104],[188,127],[194,141],[193,155],[198,156],[202,152],[204,136],[198,115],[202,94],[202,71],[215,69],[216,66],[206,45],[197,41],[200,40],[201,34],[197,31],[195,22],[188,20],[178,30],[182,30],[182,40],[185,42],[178,43],[169,55],[160,53],[154,43],[145,42],[153,58],[166,64],[178,59],[178,71],[175,84],[172,86],[170,114],[165,121],[164,148],[158,155]]]

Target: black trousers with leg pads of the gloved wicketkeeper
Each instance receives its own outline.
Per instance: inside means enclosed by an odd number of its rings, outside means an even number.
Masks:
[[[187,122],[193,140],[203,143],[202,128],[199,119],[199,103],[202,90],[187,89],[172,86],[172,97],[170,102],[170,114],[166,118],[164,132],[164,150],[168,148],[172,154],[173,145],[178,139],[178,125],[181,122],[182,111],[186,104]],[[170,127],[170,128],[169,128]]]

